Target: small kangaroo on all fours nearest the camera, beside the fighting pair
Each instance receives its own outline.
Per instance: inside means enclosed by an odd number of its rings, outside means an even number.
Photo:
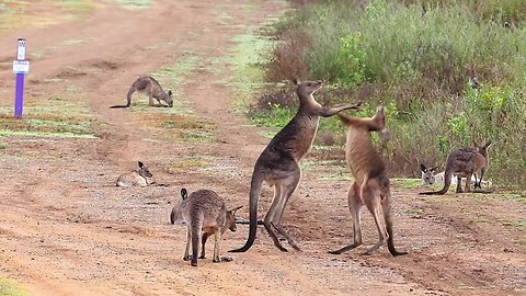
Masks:
[[[181,190],[181,201],[175,205],[170,215],[170,221],[184,221],[187,227],[186,249],[184,261],[191,260],[192,266],[197,266],[197,252],[199,250],[199,238],[202,243],[199,259],[205,259],[206,240],[215,235],[214,259],[217,263],[232,261],[229,257],[219,257],[219,241],[225,230],[236,231],[236,212],[242,206],[227,210],[221,197],[211,190],[199,190],[190,196],[186,189]],[[203,235],[202,235],[203,234]],[[192,243],[192,254],[190,244]]]

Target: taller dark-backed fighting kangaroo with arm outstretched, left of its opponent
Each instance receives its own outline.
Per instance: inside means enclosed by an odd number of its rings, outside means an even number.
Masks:
[[[301,178],[298,163],[312,146],[320,116],[329,117],[344,110],[357,109],[361,104],[324,107],[313,96],[313,93],[321,89],[321,81],[300,82],[296,80],[295,83],[296,93],[299,98],[299,109],[293,119],[274,136],[255,162],[250,183],[249,238],[243,247],[230,250],[230,252],[245,252],[254,243],[258,230],[258,200],[263,181],[274,186],[272,205],[263,220],[266,231],[281,251],[286,252],[287,249],[279,243],[272,227],[282,234],[295,250],[299,251],[298,246],[282,226],[287,202]]]

